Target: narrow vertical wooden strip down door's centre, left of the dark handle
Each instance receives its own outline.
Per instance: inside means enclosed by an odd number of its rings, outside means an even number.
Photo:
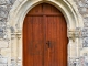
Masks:
[[[48,37],[48,24],[47,24],[47,18],[46,15],[43,15],[43,26],[44,26],[44,66],[48,66],[50,64],[50,57],[48,57],[48,45],[47,45],[47,37]]]

